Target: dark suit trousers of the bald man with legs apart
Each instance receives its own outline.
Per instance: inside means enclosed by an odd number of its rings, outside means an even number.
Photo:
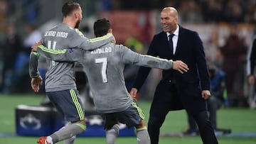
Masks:
[[[166,118],[166,114],[169,113],[169,111],[180,109],[183,109],[183,104],[181,99],[178,97],[176,84],[171,84],[170,82],[164,81],[159,82],[158,86],[156,87],[156,92],[154,94],[154,99],[149,112],[148,131],[151,144],[159,143],[159,132]],[[208,120],[207,111],[197,113],[193,115],[193,118],[198,124],[203,143],[218,143],[213,131],[213,127]]]

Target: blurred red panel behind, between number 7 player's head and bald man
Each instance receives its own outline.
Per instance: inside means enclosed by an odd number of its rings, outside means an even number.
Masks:
[[[155,33],[155,15],[154,11],[103,11],[100,18],[110,20],[117,44],[131,36],[150,43]]]

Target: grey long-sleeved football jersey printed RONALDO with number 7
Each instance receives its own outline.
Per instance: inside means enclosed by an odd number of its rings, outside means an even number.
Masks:
[[[114,43],[108,43],[92,51],[76,49],[65,50],[63,53],[64,51],[46,50],[40,46],[38,52],[53,60],[82,62],[99,113],[124,111],[132,103],[132,97],[124,83],[124,65],[171,69],[173,64],[172,60],[140,55],[124,45]]]

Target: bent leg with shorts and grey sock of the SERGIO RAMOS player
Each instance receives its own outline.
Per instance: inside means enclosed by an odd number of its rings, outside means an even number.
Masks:
[[[70,89],[60,92],[48,92],[47,94],[56,109],[63,113],[65,121],[70,121],[71,123],[46,137],[48,143],[57,143],[85,131],[85,113],[77,90]]]

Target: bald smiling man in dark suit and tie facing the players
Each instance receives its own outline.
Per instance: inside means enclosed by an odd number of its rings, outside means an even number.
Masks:
[[[189,70],[183,74],[174,70],[163,70],[149,115],[151,144],[159,143],[159,130],[166,114],[181,109],[186,109],[193,116],[204,144],[218,143],[207,113],[206,99],[210,96],[210,77],[201,38],[195,31],[178,25],[178,12],[173,7],[166,7],[161,11],[161,25],[163,31],[154,35],[147,55],[182,60]],[[130,92],[132,96],[136,96],[150,70],[146,67],[139,68]]]

